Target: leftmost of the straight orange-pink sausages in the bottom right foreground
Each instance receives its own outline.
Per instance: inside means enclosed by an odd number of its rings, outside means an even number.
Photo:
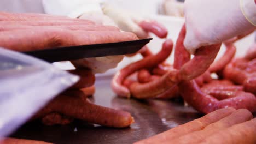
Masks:
[[[149,139],[139,141],[137,142],[137,144],[158,143],[159,141],[171,141],[173,139],[176,139],[177,137],[187,135],[193,131],[202,130],[205,127],[207,127],[207,125],[217,122],[220,119],[231,115],[231,113],[233,113],[234,111],[235,109],[233,108],[216,110],[199,119],[195,119],[194,121],[185,123],[183,125],[179,125],[178,127],[172,128],[168,131],[165,131],[164,133],[150,137]]]

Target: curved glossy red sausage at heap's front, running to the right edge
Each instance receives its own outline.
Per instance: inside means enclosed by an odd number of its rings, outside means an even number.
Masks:
[[[236,97],[219,101],[211,95],[203,93],[194,80],[181,82],[179,88],[183,99],[202,113],[210,113],[224,107],[247,109],[251,112],[256,111],[256,97],[251,93],[241,92]]]

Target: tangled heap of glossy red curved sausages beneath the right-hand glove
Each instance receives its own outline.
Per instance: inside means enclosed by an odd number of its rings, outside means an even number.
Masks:
[[[137,99],[170,99],[181,96],[199,112],[210,113],[224,107],[256,111],[256,85],[254,75],[255,45],[243,58],[233,59],[234,42],[240,35],[225,41],[226,52],[216,62],[221,44],[200,47],[193,59],[185,50],[183,40],[186,29],[182,27],[176,41],[174,64],[165,62],[172,51],[172,41],[167,39],[159,53],[148,49],[141,52],[141,61],[127,65],[112,80],[112,89],[121,97]],[[212,73],[218,79],[211,77]]]

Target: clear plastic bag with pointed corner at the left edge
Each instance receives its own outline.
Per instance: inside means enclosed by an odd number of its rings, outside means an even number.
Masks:
[[[50,63],[0,48],[0,138],[78,79]]]

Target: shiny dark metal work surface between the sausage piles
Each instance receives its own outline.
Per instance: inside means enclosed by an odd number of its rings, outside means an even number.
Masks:
[[[118,98],[110,89],[111,77],[96,80],[96,104],[128,111],[135,118],[129,128],[101,127],[75,121],[69,125],[44,126],[40,122],[23,125],[11,137],[41,140],[57,144],[66,143],[133,143],[161,133],[202,115],[181,101]]]

